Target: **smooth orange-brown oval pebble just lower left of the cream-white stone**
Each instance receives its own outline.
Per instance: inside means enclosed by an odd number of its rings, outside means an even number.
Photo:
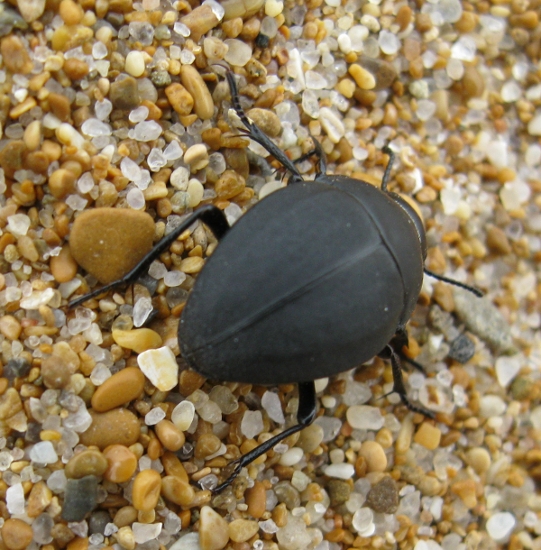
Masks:
[[[143,373],[137,367],[126,367],[98,386],[92,396],[92,407],[97,412],[116,409],[139,397],[144,386]]]

